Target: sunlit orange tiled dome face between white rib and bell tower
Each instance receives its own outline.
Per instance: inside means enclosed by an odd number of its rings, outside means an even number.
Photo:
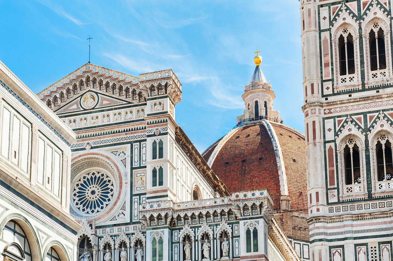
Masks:
[[[272,126],[283,154],[291,209],[307,209],[306,145],[304,137],[278,124],[272,123]]]

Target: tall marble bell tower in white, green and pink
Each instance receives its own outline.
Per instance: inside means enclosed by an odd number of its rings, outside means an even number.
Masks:
[[[311,260],[393,260],[391,3],[300,0]]]

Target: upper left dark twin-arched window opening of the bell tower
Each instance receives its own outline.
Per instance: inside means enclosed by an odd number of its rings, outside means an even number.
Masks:
[[[353,46],[353,36],[347,28],[343,29],[338,38],[338,56],[340,75],[355,73],[355,52]]]

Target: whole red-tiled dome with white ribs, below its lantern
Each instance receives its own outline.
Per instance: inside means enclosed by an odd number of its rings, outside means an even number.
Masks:
[[[298,130],[267,120],[249,121],[202,155],[230,193],[266,188],[275,210],[288,196],[291,210],[307,209],[305,138]]]

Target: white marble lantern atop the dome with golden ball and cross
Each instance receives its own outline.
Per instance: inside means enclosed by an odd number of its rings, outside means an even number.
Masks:
[[[266,78],[261,70],[262,57],[258,55],[260,51],[255,52],[254,57],[255,70],[249,85],[245,85],[244,94],[244,114],[237,117],[237,123],[242,121],[253,120],[270,120],[281,122],[279,111],[273,110],[273,99],[275,98],[272,91],[270,81],[266,82]]]

